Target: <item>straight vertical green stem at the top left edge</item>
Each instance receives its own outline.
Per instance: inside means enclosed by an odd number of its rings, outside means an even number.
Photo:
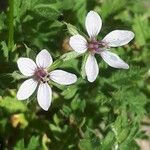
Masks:
[[[14,0],[9,0],[8,12],[8,50],[14,46]]]

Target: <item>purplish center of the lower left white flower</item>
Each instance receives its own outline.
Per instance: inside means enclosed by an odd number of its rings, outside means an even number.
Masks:
[[[35,80],[45,83],[48,81],[49,74],[43,68],[38,68],[34,73],[34,77]]]

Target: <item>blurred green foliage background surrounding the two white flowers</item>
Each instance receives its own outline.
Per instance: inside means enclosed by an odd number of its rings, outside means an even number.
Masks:
[[[35,59],[44,48],[54,60],[68,52],[71,35],[64,22],[86,33],[90,10],[103,20],[99,39],[115,29],[135,33],[129,45],[112,49],[130,69],[113,69],[97,58],[100,74],[88,83],[80,75],[82,58],[72,59],[59,68],[79,81],[52,87],[48,112],[36,95],[18,101],[23,78],[17,59]],[[0,150],[147,150],[149,140],[149,0],[0,0]]]

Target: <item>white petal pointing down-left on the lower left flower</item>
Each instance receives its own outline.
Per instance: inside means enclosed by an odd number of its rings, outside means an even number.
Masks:
[[[33,79],[28,79],[24,81],[17,92],[17,99],[25,100],[29,98],[35,91],[37,85],[38,83]]]

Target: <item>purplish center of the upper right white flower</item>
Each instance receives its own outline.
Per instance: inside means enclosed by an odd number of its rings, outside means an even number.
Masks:
[[[96,39],[93,39],[89,41],[88,43],[88,49],[92,53],[98,53],[103,50],[103,48],[106,48],[107,44],[103,41],[97,41]]]

